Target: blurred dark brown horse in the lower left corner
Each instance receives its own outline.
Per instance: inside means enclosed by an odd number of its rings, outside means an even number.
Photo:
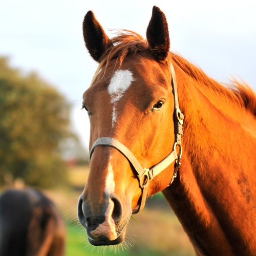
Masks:
[[[66,227],[55,204],[32,188],[0,196],[1,256],[64,256]]]

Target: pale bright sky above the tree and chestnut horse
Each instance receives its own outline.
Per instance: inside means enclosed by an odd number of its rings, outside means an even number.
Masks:
[[[88,149],[90,124],[81,110],[97,63],[84,47],[82,22],[92,10],[104,29],[145,37],[153,6],[166,15],[171,50],[221,82],[242,78],[256,91],[256,2],[251,0],[0,0],[0,56],[36,71],[72,104],[72,127]],[[109,33],[109,32],[107,32]]]

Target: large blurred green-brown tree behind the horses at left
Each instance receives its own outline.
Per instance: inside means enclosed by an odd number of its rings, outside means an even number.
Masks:
[[[28,185],[49,187],[66,179],[61,141],[70,105],[35,73],[24,76],[0,58],[0,183],[9,174]]]

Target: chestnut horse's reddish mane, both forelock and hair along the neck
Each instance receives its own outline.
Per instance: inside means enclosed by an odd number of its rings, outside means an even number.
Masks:
[[[93,76],[92,83],[103,67],[106,68],[112,59],[117,59],[116,63],[119,62],[120,68],[126,56],[136,55],[137,53],[148,50],[147,40],[140,34],[124,29],[113,31],[117,34],[110,39],[113,46],[106,50],[99,59],[99,66]],[[201,87],[210,90],[212,94],[224,96],[230,103],[236,104],[249,111],[253,116],[256,116],[256,95],[244,81],[242,83],[236,78],[233,78],[229,84],[222,84],[207,76],[200,67],[189,62],[177,53],[170,52],[169,58],[172,58],[172,60],[190,78],[197,81]]]

